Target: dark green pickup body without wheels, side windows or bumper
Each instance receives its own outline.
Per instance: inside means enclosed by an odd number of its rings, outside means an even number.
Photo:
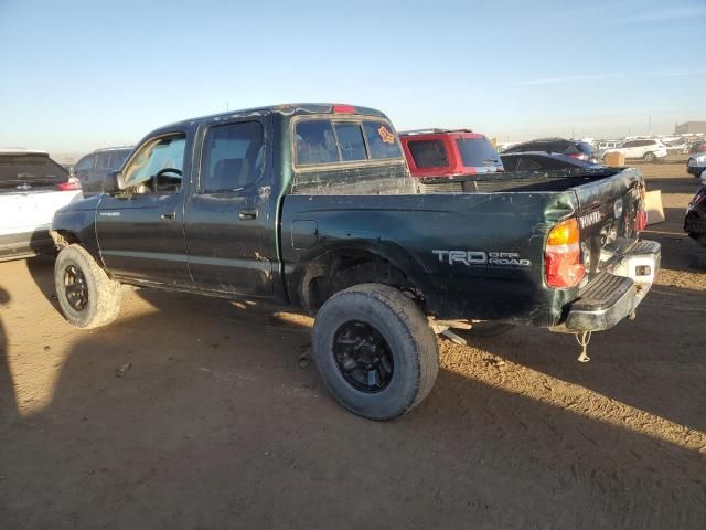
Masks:
[[[298,166],[303,140],[295,126],[306,120],[330,120],[349,132],[360,127],[367,158],[355,159],[351,140],[343,144],[336,132],[307,152],[329,149],[327,156],[338,152],[339,161]],[[263,126],[257,179],[242,189],[207,192],[204,138],[212,127],[239,121]],[[373,158],[363,121],[373,131],[379,124],[381,138],[374,140],[379,152],[393,155]],[[402,149],[394,155],[394,128],[373,109],[339,115],[321,104],[242,110],[162,127],[140,145],[173,131],[186,136],[178,192],[104,194],[55,218],[55,234],[86,246],[121,282],[269,298],[312,311],[341,288],[382,282],[408,290],[441,319],[553,328],[565,321],[579,290],[638,237],[643,183],[635,170],[570,178],[480,174],[471,188],[464,184],[467,192],[419,193]],[[571,218],[580,224],[588,274],[574,287],[549,288],[547,234]]]

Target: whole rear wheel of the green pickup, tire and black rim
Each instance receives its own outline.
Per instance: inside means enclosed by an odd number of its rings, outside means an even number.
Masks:
[[[339,403],[371,420],[414,409],[439,371],[426,316],[402,292],[382,284],[355,285],[327,300],[313,327],[313,357]]]

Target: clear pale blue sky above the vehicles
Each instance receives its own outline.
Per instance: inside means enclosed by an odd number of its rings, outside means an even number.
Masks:
[[[0,0],[0,147],[293,102],[499,141],[671,134],[706,120],[705,51],[706,0]]]

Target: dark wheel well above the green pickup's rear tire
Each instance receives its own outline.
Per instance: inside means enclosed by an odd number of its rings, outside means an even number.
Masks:
[[[303,308],[314,312],[335,293],[367,283],[393,285],[422,299],[421,292],[399,267],[361,250],[335,251],[312,261],[302,276],[299,295]]]

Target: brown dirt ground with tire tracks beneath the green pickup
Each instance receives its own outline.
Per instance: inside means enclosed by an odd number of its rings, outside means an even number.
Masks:
[[[706,528],[697,181],[640,167],[667,221],[638,318],[587,364],[533,328],[440,341],[435,390],[388,423],[300,367],[310,319],[125,288],[116,324],[79,331],[51,262],[0,264],[0,528]]]

